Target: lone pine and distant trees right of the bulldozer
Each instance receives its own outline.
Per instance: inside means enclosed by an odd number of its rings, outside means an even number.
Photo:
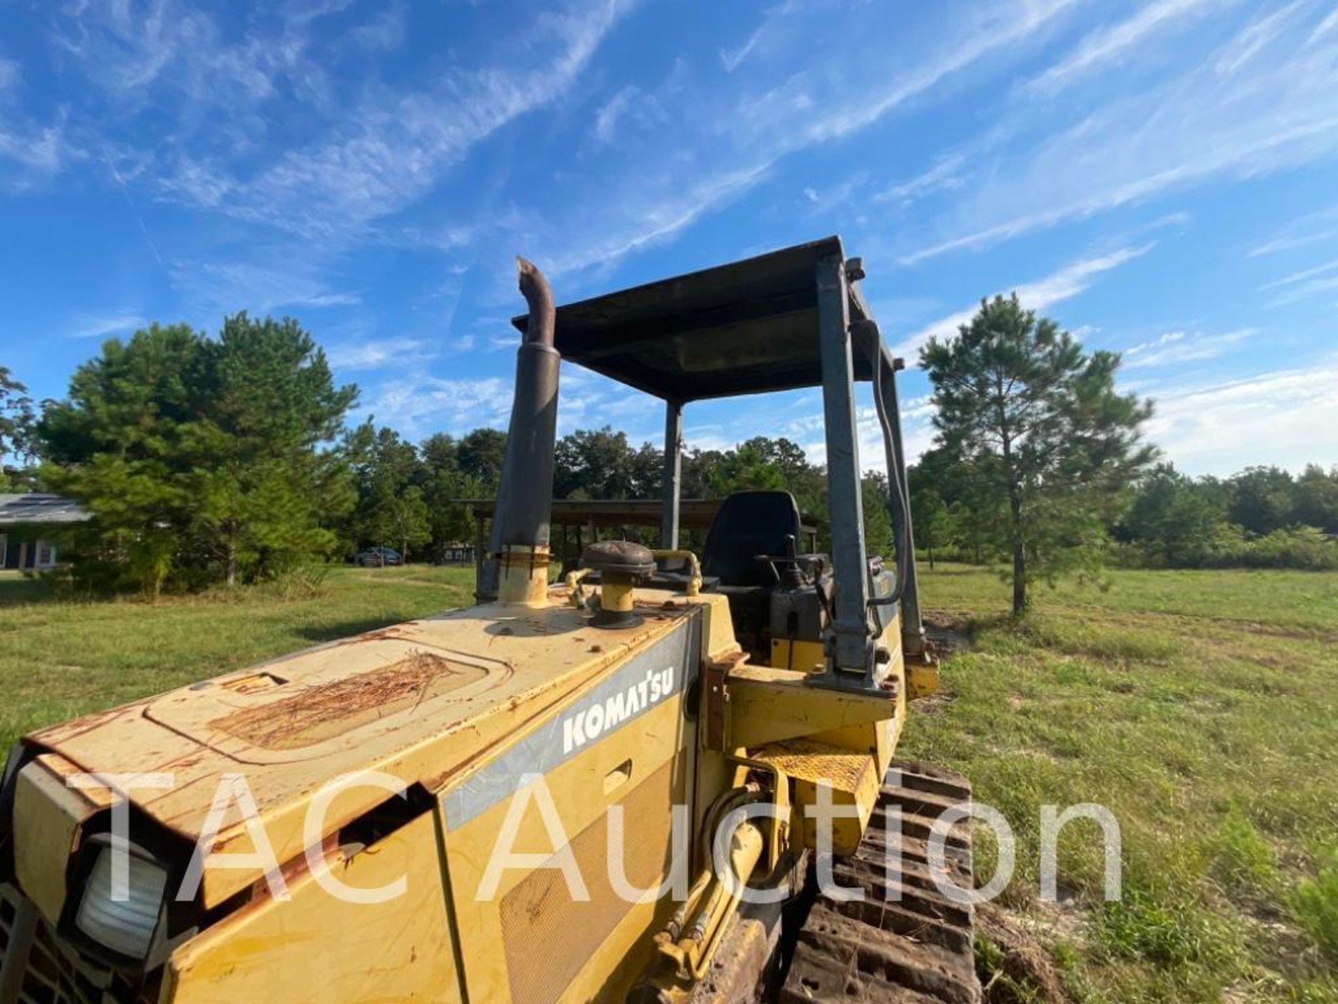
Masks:
[[[1026,586],[1105,562],[1338,569],[1338,467],[1189,478],[1143,440],[1153,403],[1115,390],[1113,352],[1085,352],[1014,295],[982,300],[921,353],[935,444],[909,471],[917,543],[1009,562]]]

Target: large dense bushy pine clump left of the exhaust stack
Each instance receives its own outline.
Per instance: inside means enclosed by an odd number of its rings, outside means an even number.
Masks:
[[[292,320],[230,317],[217,340],[153,325],[110,340],[37,426],[43,479],[94,513],[76,565],[157,596],[258,578],[326,550],[352,505],[325,446],[356,399]]]

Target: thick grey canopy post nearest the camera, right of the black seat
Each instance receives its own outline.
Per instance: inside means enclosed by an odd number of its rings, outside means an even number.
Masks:
[[[874,685],[868,632],[868,560],[859,486],[855,367],[851,357],[850,292],[839,254],[818,262],[818,340],[827,426],[827,494],[836,580],[835,616],[827,645],[827,684]]]

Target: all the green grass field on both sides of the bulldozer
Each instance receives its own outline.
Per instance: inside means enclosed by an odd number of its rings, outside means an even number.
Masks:
[[[925,573],[971,635],[903,752],[967,774],[1017,834],[1004,902],[1088,1001],[1338,1001],[1338,576],[1116,572],[1040,589],[1010,622],[987,570]],[[468,601],[468,569],[332,569],[317,596],[74,604],[0,577],[0,742],[282,652]],[[1108,806],[1124,897],[1103,901],[1094,825],[1038,898],[1042,805]],[[979,870],[994,854],[979,841]],[[989,954],[990,949],[985,949]],[[1001,976],[993,1000],[1029,1000]]]

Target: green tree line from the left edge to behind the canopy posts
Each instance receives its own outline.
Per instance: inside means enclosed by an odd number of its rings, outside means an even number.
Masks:
[[[495,495],[506,434],[413,443],[373,419],[348,427],[357,399],[296,320],[240,313],[217,336],[154,324],[104,343],[60,400],[35,404],[0,369],[0,489],[55,491],[94,514],[62,549],[80,592],[154,597],[367,546],[434,561],[471,542],[466,501]],[[660,498],[661,477],[660,448],[607,427],[557,443],[559,498]],[[805,511],[824,509],[822,469],[787,439],[686,451],[685,497],[744,487],[787,487]],[[871,530],[886,549],[886,513]]]

